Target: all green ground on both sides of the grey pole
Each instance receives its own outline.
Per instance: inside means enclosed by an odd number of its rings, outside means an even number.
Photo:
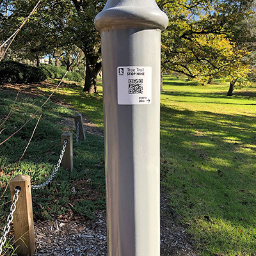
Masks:
[[[19,96],[19,109],[4,125],[0,141],[35,112],[45,100],[38,95],[51,93],[52,83],[58,81],[40,84],[32,97]],[[53,102],[40,111],[42,120],[19,168],[15,170],[15,164],[36,118],[0,147],[1,194],[14,170],[13,175],[31,175],[33,183],[48,177],[60,156],[60,135],[67,129],[60,121],[75,110],[103,128],[101,82],[97,95],[81,90],[77,84],[63,84]],[[170,218],[187,227],[200,256],[256,253],[256,88],[236,89],[234,97],[227,97],[227,90],[227,83],[197,86],[165,76],[161,95],[162,187],[175,212]],[[0,119],[10,111],[15,96],[0,90]],[[74,143],[74,152],[73,173],[61,168],[51,186],[33,191],[36,220],[72,214],[93,218],[93,212],[105,209],[103,138],[88,134],[86,141]],[[1,228],[8,200],[6,191],[0,203]]]

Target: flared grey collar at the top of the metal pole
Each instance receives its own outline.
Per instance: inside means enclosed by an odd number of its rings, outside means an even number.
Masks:
[[[100,32],[125,28],[163,30],[168,26],[168,17],[155,0],[108,0],[94,22]]]

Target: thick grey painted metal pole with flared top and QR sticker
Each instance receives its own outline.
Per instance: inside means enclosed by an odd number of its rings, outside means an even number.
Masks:
[[[160,57],[155,0],[108,0],[102,36],[109,256],[160,255]]]

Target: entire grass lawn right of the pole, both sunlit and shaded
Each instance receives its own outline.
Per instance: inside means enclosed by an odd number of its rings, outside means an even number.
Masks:
[[[254,255],[256,88],[227,90],[165,77],[162,182],[202,255]]]

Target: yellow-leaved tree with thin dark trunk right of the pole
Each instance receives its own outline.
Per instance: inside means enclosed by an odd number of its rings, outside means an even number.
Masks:
[[[249,72],[253,1],[160,0],[159,5],[170,18],[163,33],[163,70],[204,81],[228,77],[232,95],[237,79]]]

